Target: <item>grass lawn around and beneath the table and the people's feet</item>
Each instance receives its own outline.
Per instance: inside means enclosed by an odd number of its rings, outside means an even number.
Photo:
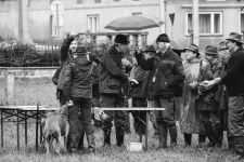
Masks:
[[[4,82],[0,80],[0,105],[5,104]],[[15,98],[11,105],[40,105],[57,107],[55,99],[55,86],[48,78],[43,79],[16,79]],[[16,125],[4,123],[4,147],[0,147],[0,162],[236,162],[237,157],[227,150],[227,143],[223,141],[221,149],[196,149],[197,136],[193,135],[193,146],[185,148],[183,137],[178,127],[178,146],[164,150],[155,150],[158,138],[153,135],[150,125],[149,150],[142,152],[129,152],[126,147],[119,148],[115,144],[114,130],[110,148],[102,147],[102,131],[95,130],[97,151],[87,154],[86,151],[74,154],[56,156],[35,151],[35,121],[28,123],[28,145],[24,145],[24,125],[21,125],[21,150],[16,150]],[[131,131],[126,135],[125,144],[138,141],[138,136]],[[169,144],[169,141],[168,141]]]

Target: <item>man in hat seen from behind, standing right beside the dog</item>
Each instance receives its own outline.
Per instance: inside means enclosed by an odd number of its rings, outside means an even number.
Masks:
[[[74,43],[74,44],[73,44]],[[94,151],[94,130],[91,124],[91,98],[92,98],[92,79],[93,64],[99,62],[98,58],[88,55],[87,46],[79,41],[73,41],[70,51],[72,58],[64,72],[64,98],[69,105],[74,105],[68,109],[68,121],[70,124],[68,135],[68,149],[73,146],[78,149],[80,139],[80,130],[84,127],[87,135],[88,149]],[[80,124],[80,113],[82,114]],[[82,127],[81,127],[82,126]],[[81,139],[82,140],[82,139]]]

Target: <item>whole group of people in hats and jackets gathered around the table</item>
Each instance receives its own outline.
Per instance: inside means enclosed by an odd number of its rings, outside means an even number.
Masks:
[[[117,35],[114,44],[100,55],[88,53],[77,38],[69,35],[62,44],[57,79],[61,106],[74,105],[68,111],[69,150],[78,149],[82,144],[81,129],[87,136],[88,149],[95,150],[91,122],[95,82],[100,107],[125,107],[127,99],[132,98],[132,107],[147,107],[150,103],[153,107],[165,108],[164,111],[153,111],[156,121],[153,125],[159,138],[157,149],[168,147],[168,132],[170,146],[177,146],[176,121],[179,120],[185,146],[191,145],[192,134],[198,134],[197,147],[205,146],[206,137],[209,140],[207,147],[220,147],[222,132],[227,130],[229,149],[244,156],[244,50],[241,35],[231,32],[219,46],[207,45],[204,56],[197,45],[191,44],[185,48],[183,60],[172,51],[166,33],[157,37],[156,45],[136,49],[132,60],[125,57],[129,44],[125,35]],[[180,114],[176,114],[177,110]],[[105,113],[108,118],[102,121],[103,146],[111,146],[113,121],[117,146],[124,146],[127,112]],[[141,136],[145,132],[145,111],[132,111],[132,116],[136,132]]]

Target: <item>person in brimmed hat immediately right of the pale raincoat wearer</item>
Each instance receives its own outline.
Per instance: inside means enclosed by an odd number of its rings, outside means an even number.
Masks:
[[[197,84],[191,84],[197,92],[196,107],[200,110],[200,121],[204,126],[206,136],[209,139],[207,147],[221,147],[221,130],[218,117],[219,100],[217,99],[218,86],[210,90],[205,89],[201,82],[219,77],[223,69],[223,63],[218,55],[218,49],[207,45],[205,49],[205,59],[207,65],[202,67]]]

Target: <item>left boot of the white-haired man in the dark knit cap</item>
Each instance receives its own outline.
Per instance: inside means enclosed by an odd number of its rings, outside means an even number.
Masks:
[[[159,122],[157,123],[157,129],[159,133],[159,144],[156,149],[167,148],[168,129],[166,127],[166,124]]]

